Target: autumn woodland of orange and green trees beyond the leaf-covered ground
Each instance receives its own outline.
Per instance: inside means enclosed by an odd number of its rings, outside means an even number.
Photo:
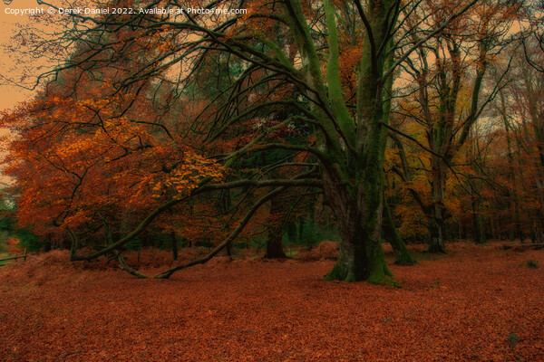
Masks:
[[[403,242],[543,243],[539,2],[170,6],[247,14],[44,15],[16,30],[5,51],[42,72],[21,74],[39,94],[2,119],[7,244],[277,258],[359,233],[411,263]],[[370,211],[339,214],[354,187]]]

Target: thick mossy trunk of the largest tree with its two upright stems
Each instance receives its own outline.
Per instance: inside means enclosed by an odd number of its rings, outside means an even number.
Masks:
[[[327,85],[331,108],[345,145],[328,148],[330,163],[322,167],[325,201],[335,213],[340,252],[325,278],[384,283],[392,276],[381,245],[384,209],[384,87],[389,59],[388,32],[396,22],[394,1],[357,2],[366,34],[357,76],[356,110],[345,106],[339,76],[339,51],[332,2],[325,1],[329,59]],[[319,139],[319,138],[318,138]],[[324,146],[326,146],[326,140]]]

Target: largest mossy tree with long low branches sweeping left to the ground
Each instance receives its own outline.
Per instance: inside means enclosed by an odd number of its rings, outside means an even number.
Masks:
[[[76,25],[79,21],[89,21],[94,26],[84,31],[74,26],[60,39],[61,43],[83,39],[85,44],[78,57],[63,66],[64,70],[83,69],[81,74],[88,73],[92,69],[102,69],[104,64],[118,64],[123,57],[128,58],[133,49],[147,52],[128,71],[116,73],[116,81],[112,85],[117,93],[135,87],[138,89],[138,84],[146,83],[148,85],[143,88],[146,91],[142,90],[142,94],[149,98],[153,97],[149,91],[151,80],[159,83],[170,81],[176,86],[167,98],[183,100],[183,92],[192,84],[212,76],[209,68],[204,66],[209,57],[235,58],[242,64],[239,75],[228,79],[215,98],[199,98],[207,105],[187,128],[183,128],[186,134],[203,136],[199,139],[206,146],[200,145],[200,154],[216,161],[207,161],[197,155],[171,161],[184,167],[189,159],[197,159],[199,166],[209,162],[209,170],[206,167],[199,170],[191,179],[189,189],[174,189],[170,200],[164,199],[163,204],[151,211],[131,233],[86,258],[121,248],[159,214],[179,205],[186,197],[237,187],[250,187],[251,190],[272,187],[248,206],[246,214],[238,219],[238,226],[208,256],[176,266],[158,276],[168,277],[174,271],[209,260],[236,238],[260,206],[287,188],[317,187],[322,188],[325,202],[335,214],[341,236],[339,258],[327,278],[374,283],[387,281],[391,272],[384,261],[380,243],[384,214],[384,143],[389,119],[385,114],[392,96],[387,92],[387,84],[401,62],[475,2],[461,2],[449,8],[452,15],[425,29],[425,35],[405,49],[399,59],[393,56],[396,49],[393,39],[405,41],[411,39],[410,33],[419,32],[415,23],[408,28],[399,26],[408,24],[406,18],[417,13],[418,2],[370,0],[362,4],[358,0],[325,0],[323,4],[316,4],[299,0],[256,1],[249,5],[248,14],[244,15],[210,16],[203,11],[203,14],[183,12],[150,18],[143,11],[121,17],[75,16]],[[156,5],[159,3],[148,5],[144,10],[152,10]],[[177,2],[169,5],[174,10],[181,9]],[[220,6],[232,9],[243,5],[245,2],[231,0],[200,4],[202,9]],[[131,35],[130,29],[135,29],[137,35]],[[112,37],[112,33],[123,36]],[[288,41],[278,42],[279,38]],[[348,52],[347,59],[340,47],[345,39],[356,45],[352,49],[360,50]],[[153,49],[160,49],[160,52],[153,52]],[[345,69],[351,69],[356,76],[343,77]],[[175,70],[178,71],[177,77]],[[297,94],[296,98],[289,96],[292,94]],[[121,114],[135,107],[131,102],[122,104],[124,106],[119,108]],[[270,117],[272,120],[267,122],[266,129],[258,128],[262,119],[288,109],[296,110],[298,114],[286,112],[290,116],[285,119]],[[135,119],[128,119],[122,127],[141,125],[142,122],[137,117]],[[311,136],[303,143],[294,144],[277,138],[278,132],[300,127],[311,130]],[[175,123],[161,123],[160,129],[168,129],[165,133],[171,134],[170,129],[180,130],[180,127]],[[237,134],[239,129],[245,133]],[[248,133],[248,129],[258,131]],[[224,143],[228,139],[231,140],[230,147]],[[161,144],[152,142],[142,143],[142,146],[146,145],[148,149],[148,143],[152,154],[163,148]],[[205,148],[206,152],[201,153],[200,148]],[[133,148],[129,149],[132,154]],[[221,152],[212,155],[212,149],[221,149]],[[291,159],[302,153],[311,156],[306,158],[306,162],[296,165],[284,162],[284,167],[293,170],[290,174],[294,176],[288,178],[270,177],[266,172],[253,173],[253,176],[236,172],[238,165],[248,157],[271,149],[286,150]],[[117,159],[125,151],[119,149],[117,152],[108,159]],[[176,152],[169,150],[167,154],[176,155]],[[216,162],[233,170],[233,175],[214,183],[213,178],[218,176]],[[268,164],[261,169],[266,167],[275,166]],[[141,175],[144,179],[149,176]],[[149,198],[144,197],[143,200]],[[141,276],[122,258],[120,261],[125,269]]]

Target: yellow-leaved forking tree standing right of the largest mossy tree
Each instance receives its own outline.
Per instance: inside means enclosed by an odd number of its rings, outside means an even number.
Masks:
[[[418,46],[406,57],[404,74],[407,91],[413,100],[402,100],[399,122],[413,122],[422,127],[424,139],[415,139],[428,152],[429,197],[409,186],[414,200],[428,218],[429,251],[445,253],[445,225],[450,213],[445,206],[446,183],[455,157],[465,144],[486,106],[502,87],[504,74],[486,87],[484,77],[495,54],[509,42],[507,36],[518,5],[481,2],[465,16],[452,23],[447,31]],[[429,5],[419,18],[408,19],[434,24],[447,6]],[[421,35],[413,34],[413,43]],[[466,81],[471,79],[471,85]],[[402,126],[399,124],[399,127]],[[405,127],[405,126],[404,126]],[[394,132],[393,132],[394,133]],[[414,139],[414,138],[412,138]],[[393,134],[399,152],[395,172],[407,184],[413,182],[413,170],[404,154],[402,139]]]

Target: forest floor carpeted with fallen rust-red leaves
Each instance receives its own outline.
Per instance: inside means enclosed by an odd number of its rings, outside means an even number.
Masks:
[[[389,251],[400,288],[323,281],[334,261],[311,257],[163,281],[48,252],[0,269],[0,360],[544,361],[544,251],[503,244]]]

